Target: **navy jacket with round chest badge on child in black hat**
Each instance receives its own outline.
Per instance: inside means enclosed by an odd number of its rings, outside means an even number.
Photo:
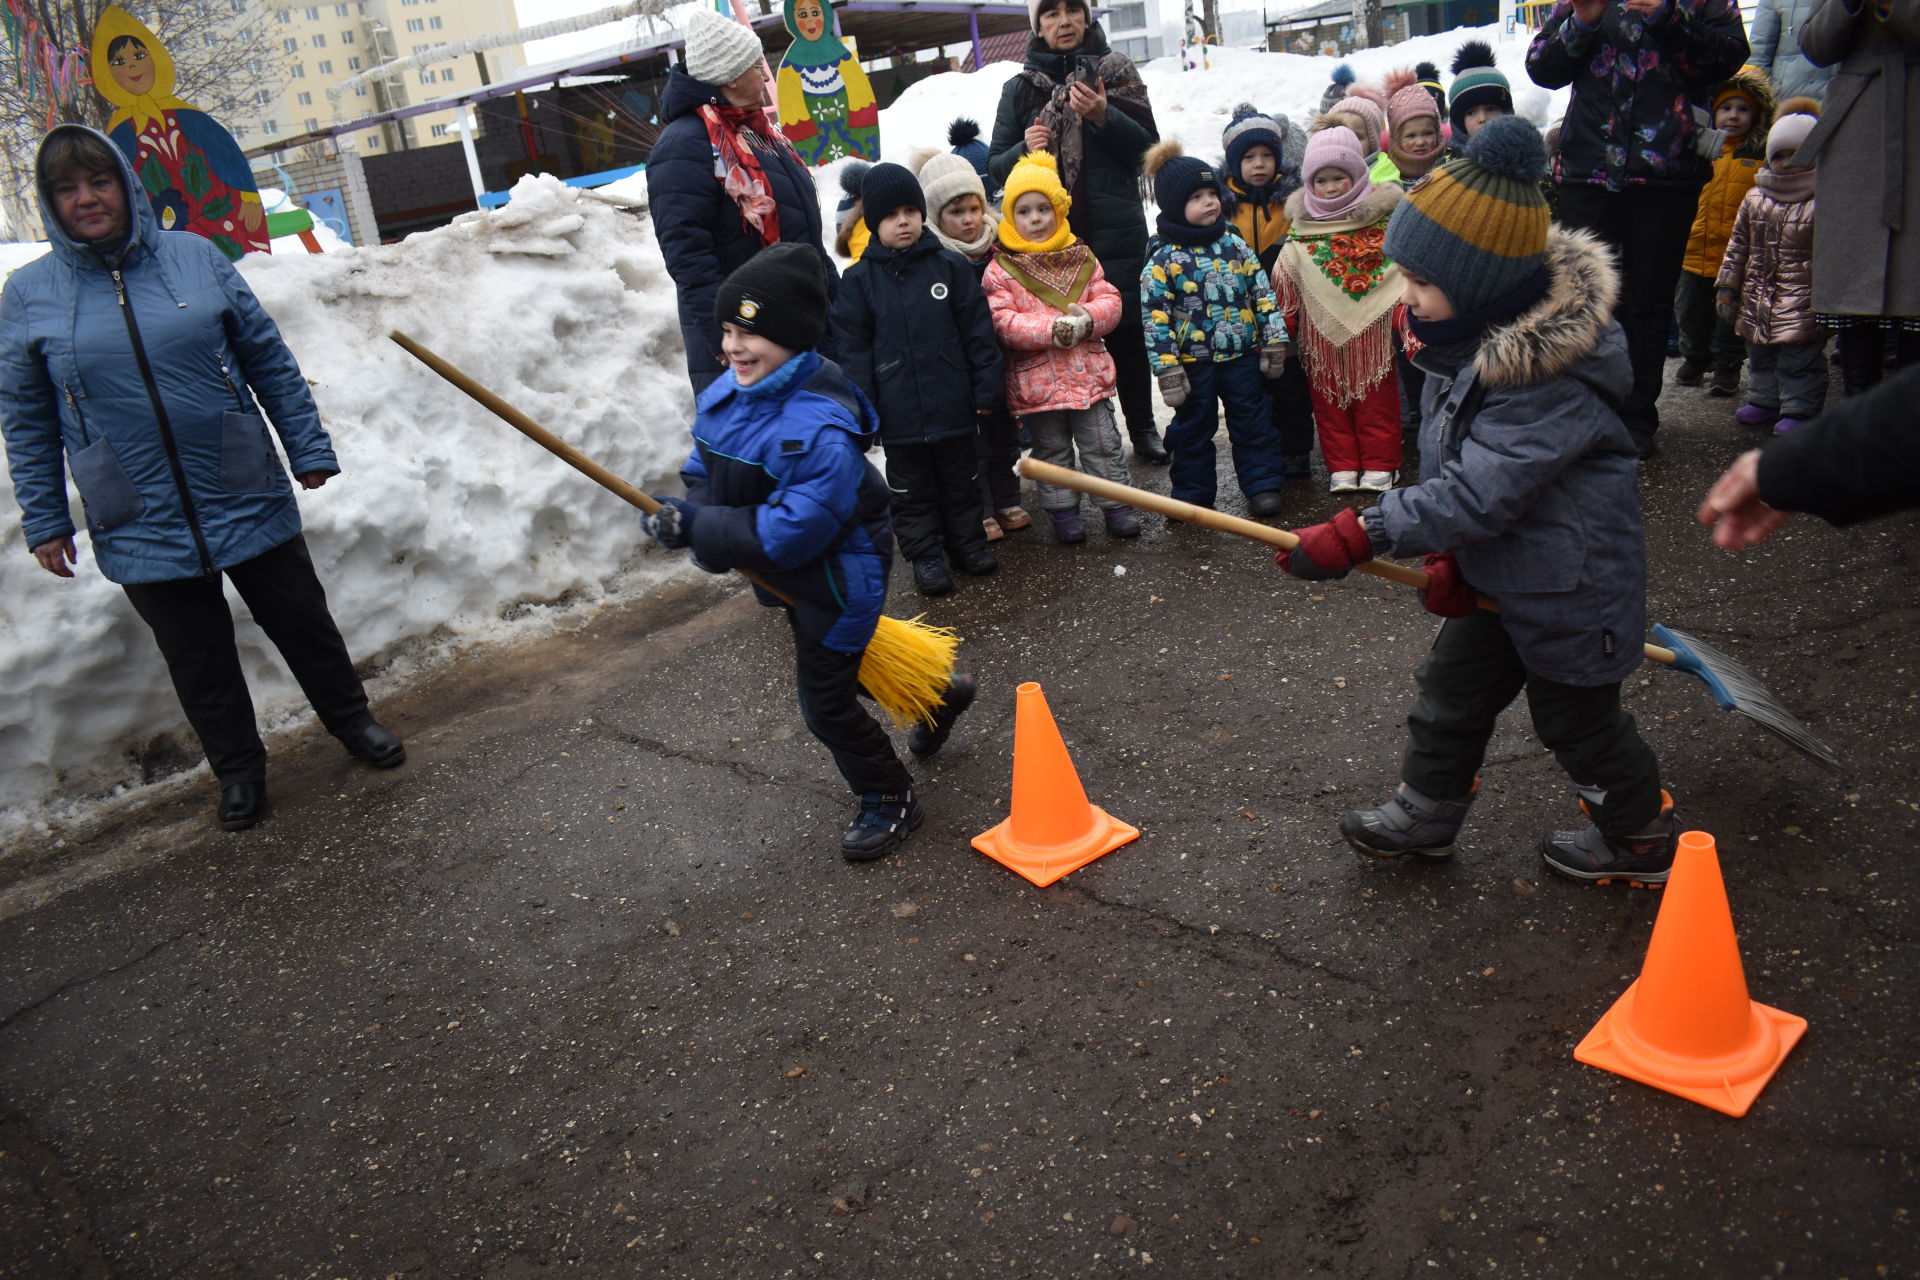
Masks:
[[[904,249],[870,240],[833,303],[841,367],[879,409],[887,445],[970,436],[1006,395],[993,309],[973,263],[931,228]]]

